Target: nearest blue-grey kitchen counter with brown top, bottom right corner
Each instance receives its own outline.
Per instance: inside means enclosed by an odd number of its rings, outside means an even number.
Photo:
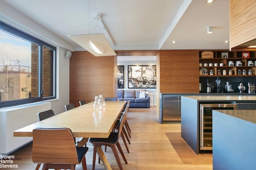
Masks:
[[[212,111],[214,170],[254,170],[256,110]]]

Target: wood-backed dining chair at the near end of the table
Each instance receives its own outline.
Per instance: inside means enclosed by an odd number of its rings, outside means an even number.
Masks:
[[[69,128],[36,128],[32,131],[32,161],[44,164],[42,170],[71,169],[82,162],[86,170],[85,154],[88,147],[76,147]]]

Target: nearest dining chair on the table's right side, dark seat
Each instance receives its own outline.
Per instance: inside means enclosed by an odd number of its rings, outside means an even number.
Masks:
[[[113,154],[116,158],[116,162],[118,164],[118,167],[120,170],[123,170],[123,167],[122,167],[122,163],[121,163],[121,160],[120,160],[120,157],[118,155],[118,152],[117,152],[117,149],[116,147],[118,148],[120,154],[122,155],[122,158],[124,159],[124,162],[126,164],[128,164],[125,156],[124,156],[124,152],[120,146],[120,143],[119,143],[119,137],[122,133],[122,127],[124,125],[124,120],[126,119],[126,115],[127,115],[127,110],[124,111],[124,114],[122,115],[122,117],[120,118],[120,126],[118,128],[118,131],[117,132],[110,132],[110,135],[108,138],[90,138],[90,143],[92,143],[93,145],[93,160],[92,160],[92,170],[95,169],[95,160],[96,160],[96,151],[97,151],[97,147],[98,146],[102,146],[102,145],[105,145],[105,146],[108,146],[112,149],[113,151]]]

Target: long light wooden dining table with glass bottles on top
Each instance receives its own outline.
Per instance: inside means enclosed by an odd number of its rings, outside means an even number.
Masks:
[[[101,109],[94,109],[93,103],[76,107],[69,111],[57,114],[48,119],[38,121],[14,131],[14,137],[32,137],[35,128],[60,128],[71,129],[74,137],[82,137],[80,146],[86,144],[89,138],[108,138],[126,101],[106,101]],[[97,153],[106,169],[111,169],[110,164],[99,146]]]

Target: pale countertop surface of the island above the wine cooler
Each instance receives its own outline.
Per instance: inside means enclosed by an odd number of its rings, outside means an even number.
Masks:
[[[195,100],[255,100],[256,96],[184,96],[186,98],[191,98]]]

